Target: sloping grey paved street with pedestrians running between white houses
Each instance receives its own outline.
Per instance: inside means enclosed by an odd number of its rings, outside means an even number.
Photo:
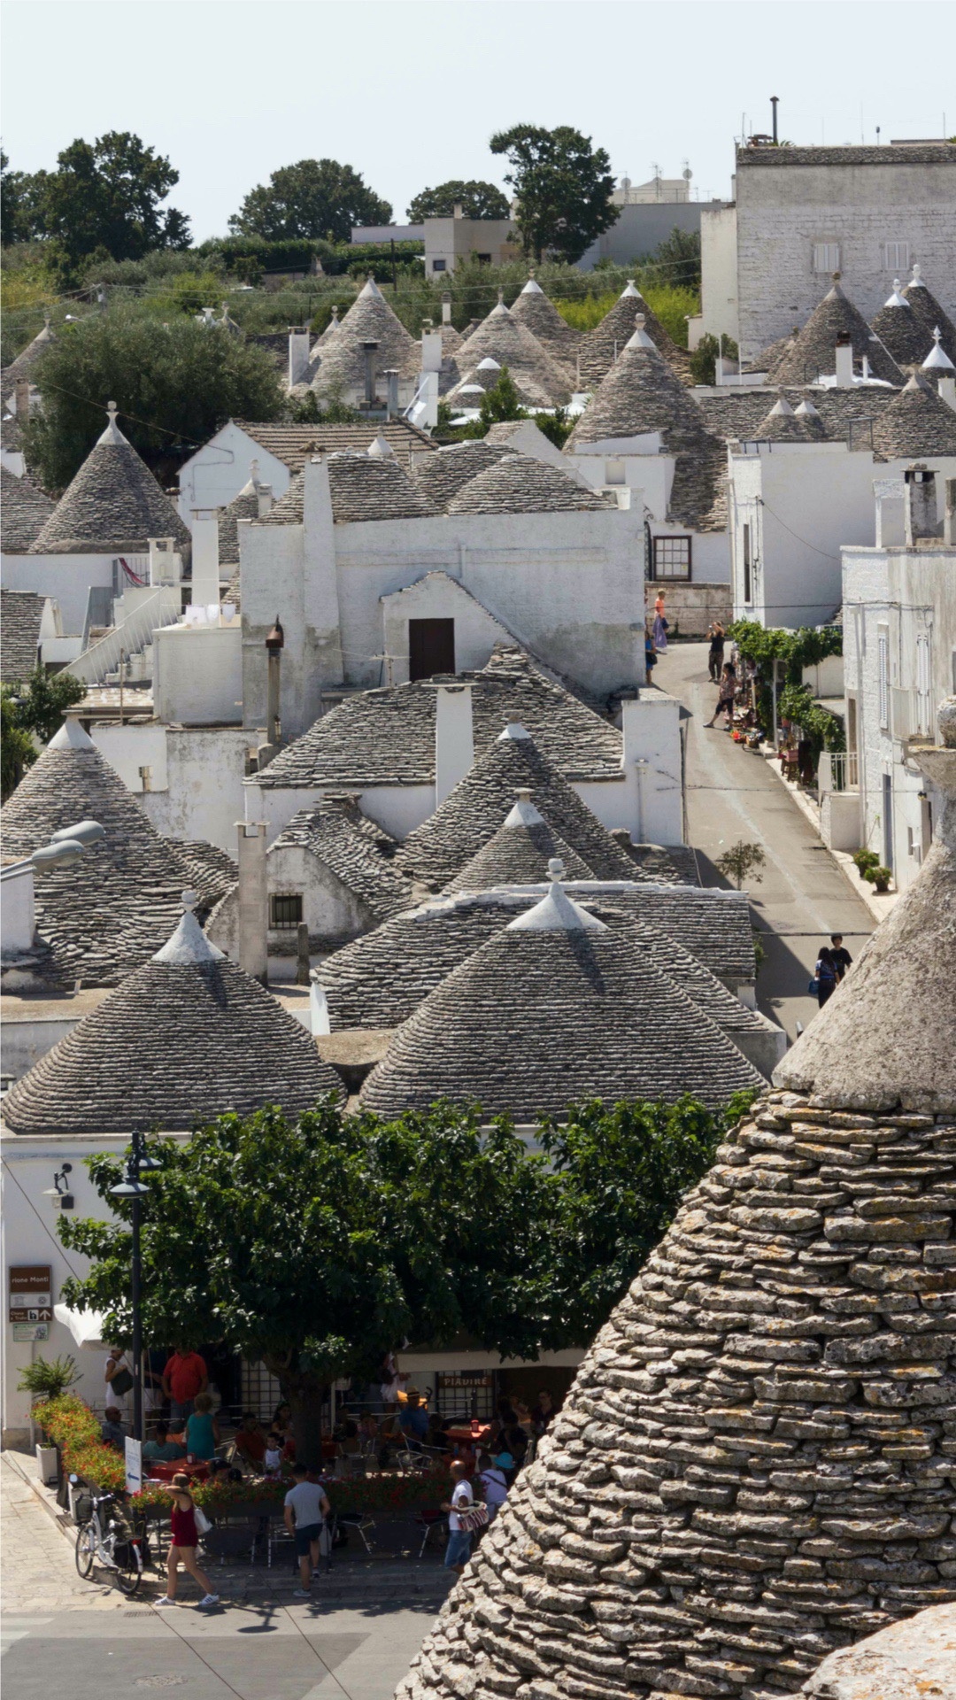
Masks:
[[[852,957],[874,921],[854,896],[813,826],[788,797],[764,756],[735,745],[728,733],[708,731],[716,687],[708,678],[706,644],[674,644],[655,666],[653,682],[691,711],[687,724],[687,838],[697,852],[704,886],[726,886],[714,862],[743,838],[767,858],[760,884],[750,884],[754,925],[764,935],[765,960],[757,1001],[791,1039],[817,1013],[806,986],[817,950],[842,932]]]

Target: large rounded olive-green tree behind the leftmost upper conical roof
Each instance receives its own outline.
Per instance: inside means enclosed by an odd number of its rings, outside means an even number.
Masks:
[[[36,382],[43,410],[26,427],[26,454],[49,490],[63,490],[82,466],[111,398],[121,430],[163,479],[228,418],[274,420],[284,406],[264,348],[189,314],[162,323],[122,303],[65,326]]]

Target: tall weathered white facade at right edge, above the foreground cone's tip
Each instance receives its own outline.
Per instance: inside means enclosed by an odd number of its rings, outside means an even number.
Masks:
[[[844,549],[844,672],[857,845],[874,850],[905,891],[941,814],[908,745],[936,740],[936,709],[956,692],[953,541],[907,546],[883,536],[881,546]]]

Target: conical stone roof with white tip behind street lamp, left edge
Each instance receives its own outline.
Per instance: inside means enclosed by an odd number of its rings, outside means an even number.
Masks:
[[[36,872],[36,926],[65,981],[116,986],[168,938],[184,867],[82,726],[66,721],[3,804],[3,855],[27,857],[85,819],[105,838]]]

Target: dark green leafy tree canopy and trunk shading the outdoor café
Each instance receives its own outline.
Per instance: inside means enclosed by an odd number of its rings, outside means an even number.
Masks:
[[[478,1107],[384,1122],[330,1098],[298,1120],[269,1108],[151,1141],[145,1336],[260,1358],[310,1462],[323,1386],[371,1379],[401,1338],[526,1358],[589,1340],[725,1127],[694,1100],[590,1105],[543,1129],[549,1164],[505,1119],[481,1127]],[[63,1290],[128,1341],[129,1207],[111,1197],[122,1163],[87,1164],[119,1219],[61,1221],[92,1260]]]

